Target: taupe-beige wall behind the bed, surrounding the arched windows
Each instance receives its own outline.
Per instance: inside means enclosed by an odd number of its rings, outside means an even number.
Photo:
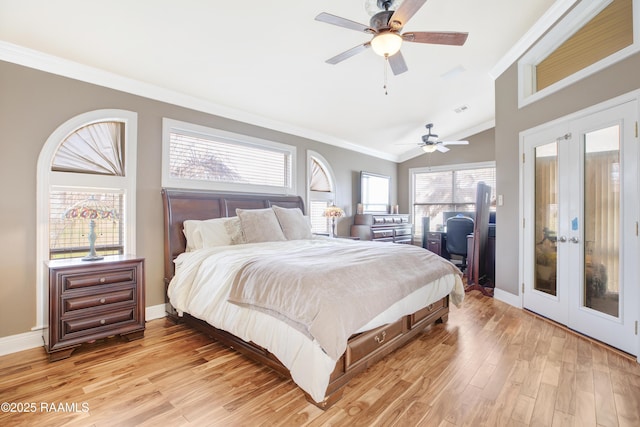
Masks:
[[[137,255],[146,258],[147,306],[164,302],[163,117],[295,145],[296,184],[303,197],[306,151],[320,153],[336,175],[337,203],[348,214],[359,199],[360,170],[390,175],[396,181],[394,162],[0,61],[0,337],[29,332],[36,323],[36,164],[40,150],[60,124],[105,108],[138,113],[136,244]],[[395,203],[395,185],[391,198]],[[342,219],[338,232],[347,234],[351,222]]]

